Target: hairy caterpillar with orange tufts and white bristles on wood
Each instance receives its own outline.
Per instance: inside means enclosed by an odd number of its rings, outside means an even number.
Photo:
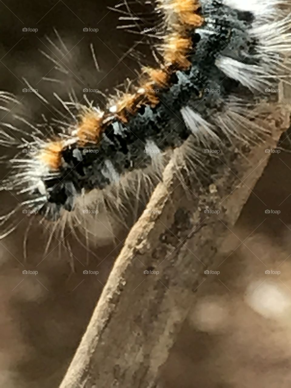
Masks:
[[[170,158],[184,158],[187,175],[203,174],[213,145],[262,140],[256,106],[289,82],[289,8],[288,0],[157,0],[156,66],[144,66],[105,109],[69,94],[59,99],[67,118],[57,130],[48,124],[45,134],[25,120],[30,131],[1,130],[0,144],[21,150],[2,181],[19,204],[1,216],[1,238],[16,229],[21,210],[61,237],[66,228],[87,242],[114,235],[114,223],[146,203]],[[16,102],[7,92],[0,100]]]

